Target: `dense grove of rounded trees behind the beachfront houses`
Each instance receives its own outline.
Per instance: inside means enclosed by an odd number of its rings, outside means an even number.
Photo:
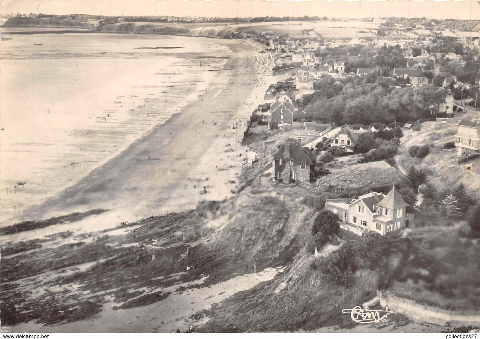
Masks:
[[[401,81],[404,81],[403,79]],[[333,120],[336,124],[389,124],[414,121],[432,116],[432,104],[441,100],[436,86],[401,87],[398,80],[373,72],[363,77],[347,78],[342,84],[334,79],[319,79],[318,91],[298,101],[306,118]]]

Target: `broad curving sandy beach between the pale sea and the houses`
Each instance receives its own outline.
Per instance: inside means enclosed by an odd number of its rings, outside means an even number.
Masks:
[[[137,135],[137,139],[124,142],[123,150],[112,148],[110,157],[105,156],[103,162],[90,167],[82,164],[83,174],[73,176],[70,185],[48,197],[44,195],[39,203],[32,200],[35,204],[20,213],[17,210],[14,220],[41,220],[104,208],[109,210],[105,214],[108,227],[190,209],[203,199],[231,196],[245,154],[239,140],[246,118],[262,103],[272,60],[269,54],[258,53],[261,46],[250,41],[224,39],[222,43],[228,47],[230,58],[224,57],[221,63],[216,60],[212,70],[203,70],[199,78],[204,80],[203,87],[196,88],[195,95],[187,92],[191,97],[183,101],[177,97],[176,110],[148,121],[148,127],[145,123],[139,126],[129,136],[132,140]],[[165,112],[158,106],[160,100],[148,99],[139,110]],[[168,102],[164,105],[168,106]],[[236,122],[238,125],[232,129]],[[115,138],[116,130],[109,128],[108,138]],[[144,129],[143,134],[140,129]],[[120,139],[124,130],[117,130]]]

